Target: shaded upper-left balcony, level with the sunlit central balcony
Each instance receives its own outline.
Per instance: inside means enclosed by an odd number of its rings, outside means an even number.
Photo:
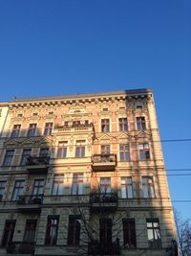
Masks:
[[[30,174],[47,174],[50,156],[40,155],[40,156],[29,156],[26,162],[27,169]]]

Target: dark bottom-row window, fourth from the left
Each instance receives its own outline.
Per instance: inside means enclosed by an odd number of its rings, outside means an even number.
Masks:
[[[80,241],[80,216],[69,216],[68,245],[78,245]]]

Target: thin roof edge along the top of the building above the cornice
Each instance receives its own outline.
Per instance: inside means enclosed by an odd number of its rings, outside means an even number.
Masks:
[[[16,102],[32,102],[32,101],[51,101],[51,100],[62,100],[62,99],[76,99],[76,98],[95,98],[101,96],[117,96],[117,95],[138,95],[138,94],[147,94],[153,93],[152,89],[149,88],[140,88],[132,90],[115,90],[107,92],[95,92],[95,93],[77,93],[77,94],[65,94],[60,96],[46,96],[46,97],[32,97],[32,98],[14,98],[11,100],[11,103]]]

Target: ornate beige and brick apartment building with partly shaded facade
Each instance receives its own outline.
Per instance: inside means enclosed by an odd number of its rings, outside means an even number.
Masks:
[[[176,255],[152,90],[0,107],[0,255]]]

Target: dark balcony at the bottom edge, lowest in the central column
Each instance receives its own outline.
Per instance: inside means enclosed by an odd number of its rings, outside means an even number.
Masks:
[[[88,244],[88,255],[120,255],[120,246],[117,242],[102,244],[95,241]]]

